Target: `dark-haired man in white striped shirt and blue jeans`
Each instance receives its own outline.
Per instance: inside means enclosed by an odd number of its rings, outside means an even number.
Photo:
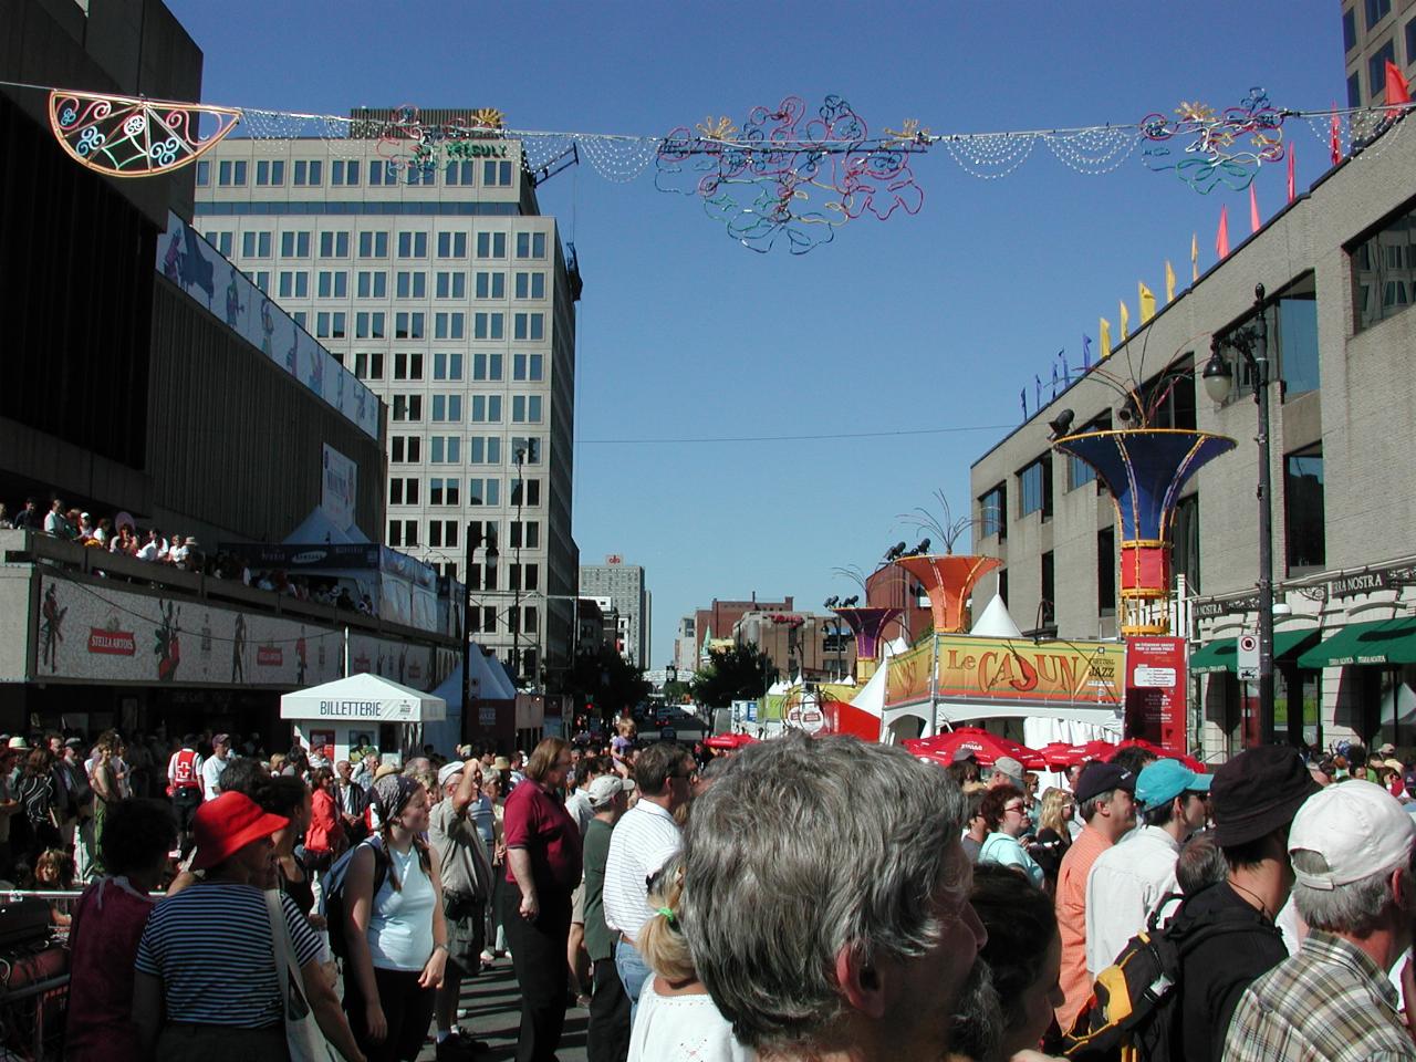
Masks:
[[[697,765],[678,742],[650,745],[634,760],[639,803],[626,811],[610,835],[605,861],[605,925],[619,933],[615,967],[619,970],[632,1010],[649,967],[634,950],[634,936],[654,912],[649,908],[647,881],[683,845],[683,831],[674,811],[692,796]]]

